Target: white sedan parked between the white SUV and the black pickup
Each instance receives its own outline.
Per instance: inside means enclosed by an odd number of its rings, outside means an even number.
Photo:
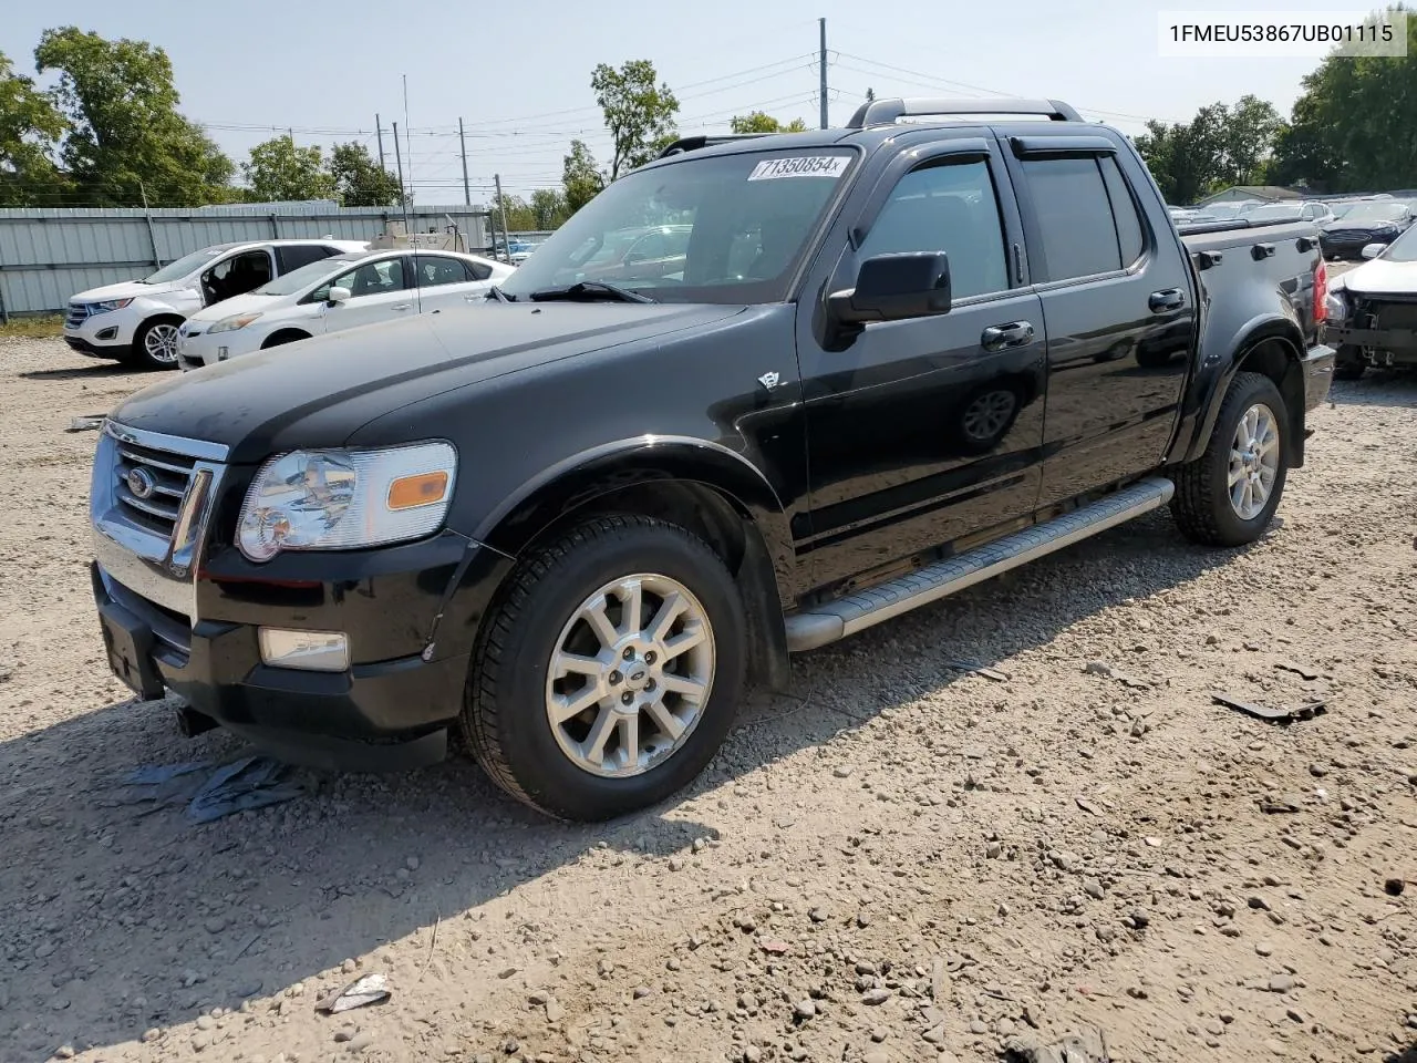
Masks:
[[[415,313],[482,302],[516,266],[452,251],[376,251],[312,262],[194,313],[179,332],[183,370]]]

